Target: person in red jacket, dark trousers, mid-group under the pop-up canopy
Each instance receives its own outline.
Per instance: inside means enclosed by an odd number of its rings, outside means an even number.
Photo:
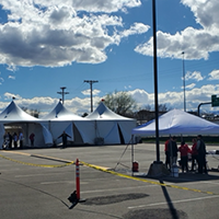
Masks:
[[[178,151],[181,152],[182,173],[184,173],[184,171],[188,172],[188,153],[191,153],[191,149],[184,140],[181,142]]]

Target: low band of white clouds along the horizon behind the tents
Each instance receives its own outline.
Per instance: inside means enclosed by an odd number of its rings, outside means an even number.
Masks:
[[[192,85],[191,85],[192,87]],[[219,85],[207,84],[201,88],[194,88],[188,91],[186,90],[186,110],[187,111],[197,111],[197,107],[200,103],[210,102],[211,95],[217,94],[219,92]],[[143,108],[145,106],[150,105],[151,110],[154,106],[154,94],[148,93],[145,90],[134,90],[128,91],[128,93],[136,100],[138,107]],[[22,99],[19,94],[4,93],[5,100],[9,102],[0,102],[0,110],[3,111],[7,105],[9,105],[12,97],[15,97],[15,103],[21,107],[27,107],[30,110],[38,110],[41,113],[41,117],[50,111],[59,102],[58,99],[51,99],[48,96],[41,96],[34,99]],[[97,107],[99,102],[103,99],[103,96],[93,96],[93,108]],[[164,92],[159,93],[159,104],[165,104],[168,108],[184,108],[184,92]],[[65,106],[70,110],[72,113],[77,115],[83,115],[84,113],[90,113],[91,111],[91,100],[90,96],[85,99],[74,97],[71,100],[65,100]],[[210,106],[209,106],[210,107]],[[212,110],[212,108],[209,108]]]

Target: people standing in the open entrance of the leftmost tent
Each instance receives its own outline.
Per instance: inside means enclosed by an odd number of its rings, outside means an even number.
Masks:
[[[30,135],[30,141],[31,141],[31,146],[33,147],[34,146],[34,137],[35,135],[32,132]],[[18,149],[18,148],[23,148],[23,140],[24,140],[24,137],[23,137],[23,132],[22,131],[19,131],[19,134],[14,132],[13,135],[9,132],[7,132],[4,135],[4,143],[3,143],[3,148],[7,149]]]

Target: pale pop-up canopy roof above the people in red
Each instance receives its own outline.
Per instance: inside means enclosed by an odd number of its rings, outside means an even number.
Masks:
[[[132,135],[155,136],[155,120],[132,129]],[[159,117],[159,135],[219,135],[219,125],[180,110]]]

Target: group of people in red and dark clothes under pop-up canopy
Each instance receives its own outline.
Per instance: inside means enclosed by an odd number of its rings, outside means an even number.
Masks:
[[[173,164],[177,162],[177,152],[181,155],[181,166],[182,172],[188,172],[188,154],[192,155],[192,168],[191,171],[195,171],[195,165],[198,165],[197,173],[207,174],[206,166],[206,145],[201,138],[201,135],[198,135],[197,138],[193,139],[192,148],[188,147],[187,143],[183,140],[181,146],[177,148],[176,138],[173,136],[169,140],[165,141],[164,145],[165,151],[165,165],[169,170]]]

